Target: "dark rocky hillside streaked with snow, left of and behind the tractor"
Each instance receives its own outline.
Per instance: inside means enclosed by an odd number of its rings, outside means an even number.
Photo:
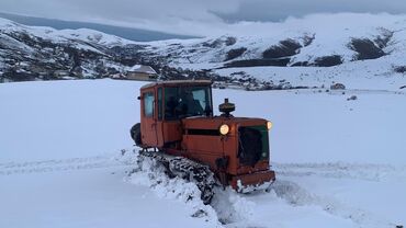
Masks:
[[[104,78],[124,73],[136,64],[151,65],[159,73],[181,77],[148,43],[131,42],[92,30],[25,26],[0,19],[0,82]],[[191,71],[207,77],[206,71]]]

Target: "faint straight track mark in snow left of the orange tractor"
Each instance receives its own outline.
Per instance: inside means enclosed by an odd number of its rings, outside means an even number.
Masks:
[[[0,175],[56,172],[68,170],[87,170],[109,167],[132,166],[131,160],[116,155],[95,156],[89,158],[55,159],[44,161],[0,163]]]

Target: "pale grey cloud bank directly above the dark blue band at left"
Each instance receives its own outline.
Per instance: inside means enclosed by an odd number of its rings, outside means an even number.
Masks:
[[[200,35],[200,24],[222,24],[213,12],[233,13],[237,0],[1,0],[7,13],[162,30]],[[193,24],[198,25],[194,27]]]

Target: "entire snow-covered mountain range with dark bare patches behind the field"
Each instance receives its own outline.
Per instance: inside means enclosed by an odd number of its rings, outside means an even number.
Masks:
[[[165,79],[212,78],[257,89],[322,88],[356,76],[393,76],[382,80],[391,81],[397,75],[398,89],[406,71],[405,37],[406,16],[390,14],[317,14],[247,23],[219,37],[148,43],[0,20],[0,75],[2,80],[103,78],[145,64]]]

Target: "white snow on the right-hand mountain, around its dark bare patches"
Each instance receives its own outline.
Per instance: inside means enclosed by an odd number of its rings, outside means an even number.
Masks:
[[[172,67],[216,69],[224,67],[227,53],[230,50],[246,48],[244,54],[229,61],[262,59],[262,54],[267,49],[281,46],[283,41],[293,41],[302,47],[296,49],[293,56],[289,56],[287,66],[300,62],[308,62],[312,66],[318,58],[339,56],[345,64],[334,68],[338,75],[341,75],[341,71],[348,73],[349,68],[360,65],[356,73],[372,78],[376,73],[392,73],[394,66],[405,65],[405,22],[404,14],[314,14],[278,23],[238,23],[225,30],[222,35],[188,41],[151,42],[146,49],[157,56],[170,55]],[[234,38],[235,44],[227,44],[227,38]],[[388,41],[387,44],[382,44],[380,39],[385,38]],[[376,47],[383,45],[381,48],[386,56],[375,60],[357,60],[358,53],[351,47],[354,39],[370,41]],[[306,45],[305,41],[308,42]],[[357,61],[352,62],[354,60]],[[363,69],[364,67],[368,69]],[[300,69],[307,72],[303,67]],[[285,73],[291,72],[285,68],[274,71],[283,70]],[[332,71],[326,70],[327,72],[323,73],[325,71],[320,70],[322,73],[318,75],[324,76],[329,76]]]

